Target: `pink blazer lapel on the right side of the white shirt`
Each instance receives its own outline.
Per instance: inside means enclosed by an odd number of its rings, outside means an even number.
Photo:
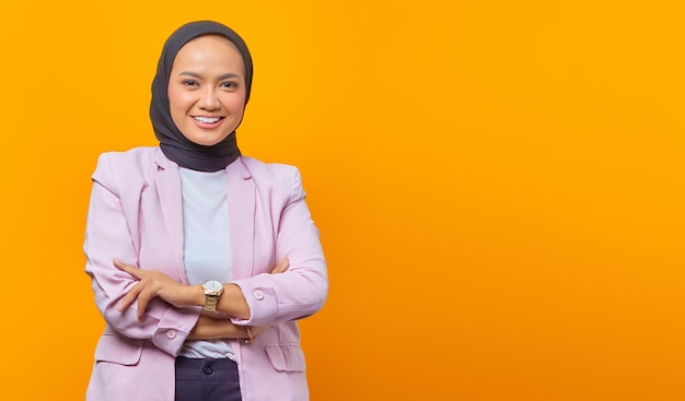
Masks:
[[[227,179],[232,272],[237,280],[254,273],[256,188],[241,158],[227,166]]]

